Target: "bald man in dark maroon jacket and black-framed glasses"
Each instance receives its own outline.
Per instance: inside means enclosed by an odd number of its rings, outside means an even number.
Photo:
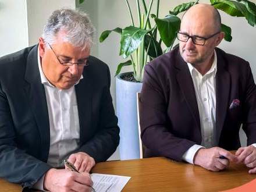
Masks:
[[[194,5],[177,33],[179,48],[145,66],[140,97],[145,157],[212,171],[241,162],[256,173],[256,87],[247,61],[216,48],[223,37],[218,10]],[[240,145],[241,125],[248,147]]]

